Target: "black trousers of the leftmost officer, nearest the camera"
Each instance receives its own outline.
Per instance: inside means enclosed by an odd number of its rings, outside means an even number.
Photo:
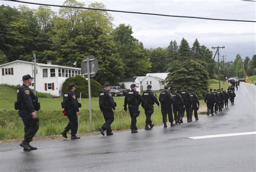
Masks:
[[[24,124],[24,142],[29,143],[38,131],[39,119],[33,119],[32,114],[24,110],[19,110],[19,117]]]

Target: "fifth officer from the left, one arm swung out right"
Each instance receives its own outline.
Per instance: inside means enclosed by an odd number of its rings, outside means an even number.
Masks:
[[[152,85],[147,85],[147,90],[143,92],[142,98],[144,101],[144,110],[145,110],[145,115],[146,115],[146,125],[145,125],[145,130],[151,130],[154,126],[152,124],[151,116],[154,112],[154,106],[153,104],[156,103],[159,107],[159,102],[157,100],[156,95],[151,91]],[[149,127],[150,125],[150,127]]]

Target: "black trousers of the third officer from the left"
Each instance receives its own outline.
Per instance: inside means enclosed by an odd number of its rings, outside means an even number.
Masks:
[[[103,110],[103,116],[105,119],[105,123],[102,125],[103,130],[106,130],[107,134],[112,133],[111,124],[114,121],[114,112],[111,107],[106,107]]]

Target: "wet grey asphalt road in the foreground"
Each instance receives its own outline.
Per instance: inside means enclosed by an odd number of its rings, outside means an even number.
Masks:
[[[0,145],[0,171],[256,171],[256,135],[188,137],[254,132],[256,86],[241,83],[235,104],[217,115],[180,126],[80,140],[35,141],[38,150]]]

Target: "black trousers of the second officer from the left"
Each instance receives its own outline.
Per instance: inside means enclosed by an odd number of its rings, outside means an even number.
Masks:
[[[69,118],[69,123],[64,128],[64,132],[69,132],[71,130],[70,134],[75,136],[78,130],[77,112],[74,110],[66,110],[66,116]]]

